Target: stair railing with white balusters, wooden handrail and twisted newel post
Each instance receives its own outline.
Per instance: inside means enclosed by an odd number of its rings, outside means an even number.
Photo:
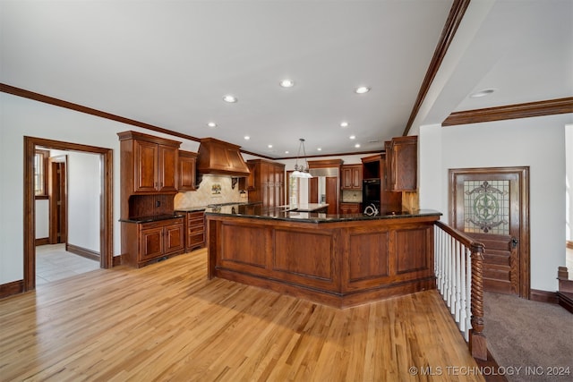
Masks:
[[[448,306],[472,356],[487,360],[483,335],[483,250],[481,242],[437,221],[434,270],[438,291]]]

